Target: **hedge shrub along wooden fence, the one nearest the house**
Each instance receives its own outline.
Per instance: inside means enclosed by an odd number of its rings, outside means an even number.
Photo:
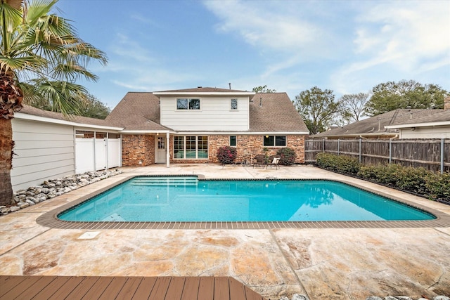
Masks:
[[[317,154],[316,162],[319,167],[324,169],[352,175],[357,174],[361,167],[356,158],[345,155],[338,156],[325,152]]]

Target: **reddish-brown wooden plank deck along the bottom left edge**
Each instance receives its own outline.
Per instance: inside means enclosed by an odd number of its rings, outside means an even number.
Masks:
[[[265,300],[230,277],[0,275],[0,299]]]

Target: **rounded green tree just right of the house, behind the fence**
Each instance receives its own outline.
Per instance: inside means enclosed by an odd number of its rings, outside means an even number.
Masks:
[[[332,90],[322,91],[317,86],[295,96],[294,105],[311,134],[325,131],[342,107],[335,101]]]

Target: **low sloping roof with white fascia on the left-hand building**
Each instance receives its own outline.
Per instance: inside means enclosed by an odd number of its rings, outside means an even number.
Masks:
[[[22,115],[23,114],[23,115]],[[15,117],[18,119],[25,119],[25,115],[34,116],[34,120],[51,121],[58,120],[57,123],[71,124],[75,126],[93,126],[101,128],[110,128],[114,130],[120,130],[122,128],[113,126],[105,119],[96,119],[91,117],[80,117],[75,115],[65,116],[60,112],[49,112],[47,110],[40,110],[39,108],[32,107],[30,105],[23,105],[19,112],[15,113]],[[30,117],[28,117],[30,119]]]

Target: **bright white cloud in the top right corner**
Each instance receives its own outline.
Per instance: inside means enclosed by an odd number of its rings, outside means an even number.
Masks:
[[[450,51],[449,15],[447,1],[375,2],[356,18],[356,54],[371,57],[361,65],[389,61],[416,70],[421,60],[444,56]]]

